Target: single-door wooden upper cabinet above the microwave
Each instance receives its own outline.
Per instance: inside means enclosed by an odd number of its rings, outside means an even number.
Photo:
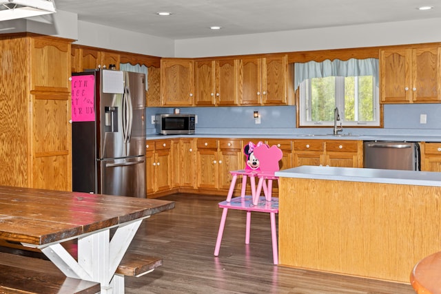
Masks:
[[[192,59],[161,59],[161,103],[163,106],[194,105]]]

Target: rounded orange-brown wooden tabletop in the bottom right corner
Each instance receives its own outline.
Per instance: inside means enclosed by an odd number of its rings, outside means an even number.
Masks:
[[[441,252],[423,258],[413,267],[411,284],[418,294],[441,294]]]

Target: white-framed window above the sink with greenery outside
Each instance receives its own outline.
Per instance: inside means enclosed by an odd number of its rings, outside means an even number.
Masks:
[[[327,61],[325,65],[313,63],[312,70],[311,67],[301,68],[304,77],[308,76],[308,70],[310,72],[309,78],[304,78],[299,83],[300,126],[334,125],[336,107],[343,126],[379,126],[378,59],[374,60],[373,67],[362,71],[352,70],[353,64],[346,61],[338,61],[338,68],[335,70],[335,62]],[[317,65],[320,67],[319,72]],[[331,67],[327,68],[328,65]],[[342,68],[345,75],[340,75]]]

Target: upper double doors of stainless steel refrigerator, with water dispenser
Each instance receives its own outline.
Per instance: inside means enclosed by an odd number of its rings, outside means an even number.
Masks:
[[[107,72],[113,71],[107,70]],[[103,85],[99,95],[101,143],[99,158],[101,159],[145,155],[145,74],[122,73],[121,92],[123,93],[106,92],[105,78],[109,75],[101,75]],[[114,83],[119,81],[116,80]]]

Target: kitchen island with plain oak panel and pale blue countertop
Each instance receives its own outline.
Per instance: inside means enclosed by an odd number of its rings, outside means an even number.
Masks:
[[[282,266],[409,283],[441,251],[441,173],[302,166],[276,176]]]

